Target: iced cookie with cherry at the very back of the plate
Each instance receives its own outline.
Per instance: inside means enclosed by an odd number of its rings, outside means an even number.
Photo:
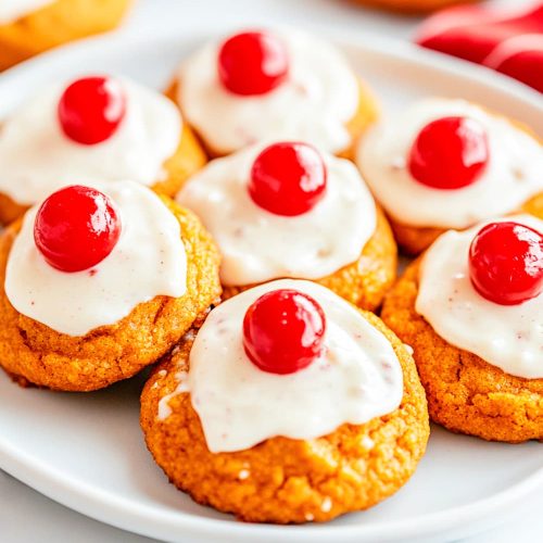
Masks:
[[[372,93],[339,51],[286,28],[205,46],[184,61],[168,96],[211,156],[294,139],[351,157],[378,115]]]

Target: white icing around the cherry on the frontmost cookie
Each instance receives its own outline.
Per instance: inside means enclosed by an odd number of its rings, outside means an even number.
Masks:
[[[310,294],[327,319],[324,354],[295,374],[262,371],[242,345],[247,310],[275,289]],[[213,453],[276,435],[318,438],[391,413],[403,396],[402,368],[387,338],[330,290],[290,279],[250,289],[210,313],[192,345],[188,386]]]

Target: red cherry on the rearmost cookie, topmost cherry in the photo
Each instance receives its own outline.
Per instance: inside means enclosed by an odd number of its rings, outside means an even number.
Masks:
[[[285,43],[268,33],[236,34],[218,52],[218,77],[235,94],[265,94],[285,80],[288,71]]]

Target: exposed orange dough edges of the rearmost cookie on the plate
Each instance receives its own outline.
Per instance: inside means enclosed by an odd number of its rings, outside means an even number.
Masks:
[[[176,97],[181,83],[182,81],[179,80],[173,81],[165,94],[172,100],[177,101]],[[342,159],[354,160],[357,143],[362,134],[379,117],[379,103],[372,91],[363,80],[358,80],[358,109],[356,110],[353,118],[346,124],[349,134],[351,135],[351,144],[343,151],[337,153],[338,156]],[[205,141],[203,141],[203,139],[201,140],[201,143],[211,159],[222,156],[222,153],[219,153],[216,149],[212,149]]]

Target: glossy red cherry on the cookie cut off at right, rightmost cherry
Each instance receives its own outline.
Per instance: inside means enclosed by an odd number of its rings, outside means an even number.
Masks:
[[[469,248],[476,290],[501,305],[516,305],[543,291],[543,236],[518,223],[491,223]]]

